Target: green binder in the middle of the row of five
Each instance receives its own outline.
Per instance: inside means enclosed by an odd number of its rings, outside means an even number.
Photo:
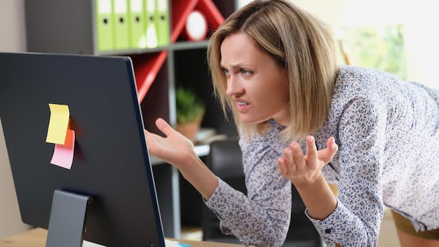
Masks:
[[[146,48],[147,34],[145,32],[146,16],[144,13],[144,0],[129,0],[128,11],[130,26],[130,48]]]

